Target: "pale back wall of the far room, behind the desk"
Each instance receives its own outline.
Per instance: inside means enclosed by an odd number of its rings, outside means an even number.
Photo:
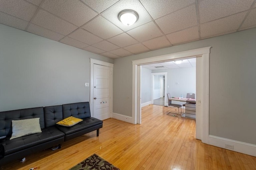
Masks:
[[[172,97],[186,98],[187,93],[196,93],[196,67],[152,70],[152,72],[167,72],[167,93]],[[178,82],[179,84],[176,84]],[[172,101],[173,104],[184,102]]]

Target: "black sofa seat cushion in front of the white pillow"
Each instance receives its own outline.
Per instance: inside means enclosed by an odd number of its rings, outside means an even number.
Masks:
[[[60,137],[64,137],[64,133],[52,126],[42,129],[42,133],[26,135],[12,140],[9,140],[10,137],[6,137],[2,140],[2,145],[5,147],[5,154],[7,155]]]

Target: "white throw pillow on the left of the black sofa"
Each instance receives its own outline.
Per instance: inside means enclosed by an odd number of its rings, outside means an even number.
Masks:
[[[40,118],[12,120],[12,137],[10,140],[42,132],[39,119]]]

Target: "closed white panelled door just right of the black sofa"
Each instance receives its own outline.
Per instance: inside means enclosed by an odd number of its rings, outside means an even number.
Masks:
[[[110,118],[110,72],[111,67],[94,64],[93,72],[93,117]]]

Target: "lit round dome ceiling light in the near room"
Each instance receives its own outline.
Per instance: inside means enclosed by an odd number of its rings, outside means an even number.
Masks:
[[[123,10],[119,12],[118,19],[126,26],[134,24],[139,16],[134,10]]]

